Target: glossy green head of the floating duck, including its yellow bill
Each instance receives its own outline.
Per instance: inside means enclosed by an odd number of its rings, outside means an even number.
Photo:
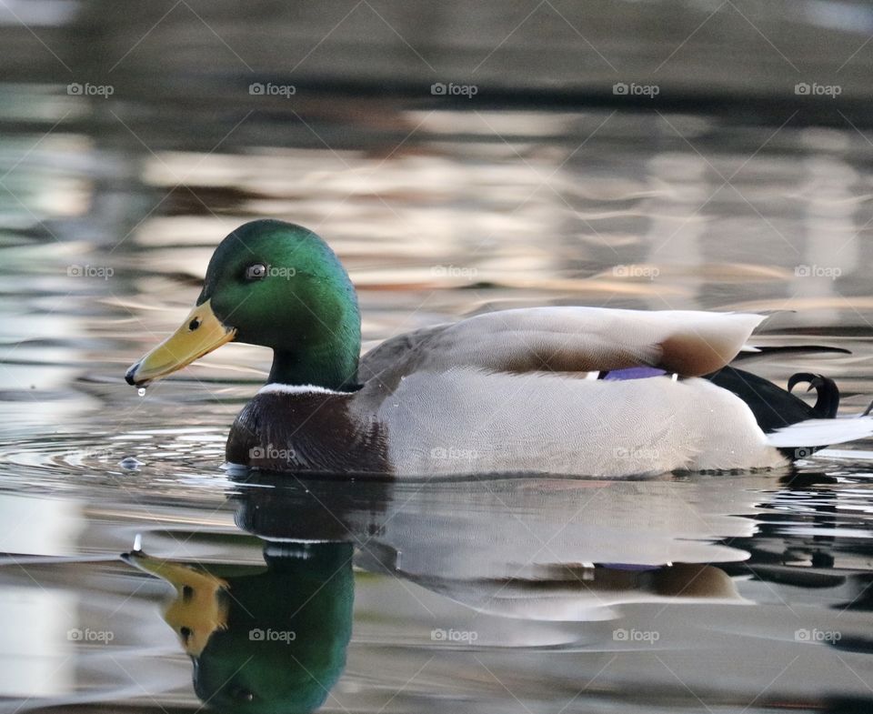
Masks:
[[[276,220],[236,228],[216,248],[182,326],[125,378],[146,385],[232,340],[273,348],[270,381],[334,389],[355,383],[355,288],[320,237]]]

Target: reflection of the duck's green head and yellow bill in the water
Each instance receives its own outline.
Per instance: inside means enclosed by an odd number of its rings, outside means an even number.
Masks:
[[[176,588],[166,623],[194,661],[194,689],[234,712],[312,711],[346,664],[352,547],[267,544],[265,567],[200,568],[125,554]]]

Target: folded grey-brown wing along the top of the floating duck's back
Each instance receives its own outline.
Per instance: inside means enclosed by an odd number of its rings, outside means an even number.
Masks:
[[[766,318],[693,310],[531,307],[477,315],[386,340],[361,378],[390,386],[418,371],[592,372],[658,367],[696,377],[724,367]]]

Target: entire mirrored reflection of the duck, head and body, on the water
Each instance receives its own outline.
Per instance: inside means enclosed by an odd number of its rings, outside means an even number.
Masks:
[[[199,567],[142,550],[125,559],[176,588],[165,618],[194,660],[200,699],[227,711],[312,711],[345,667],[353,560],[498,620],[594,623],[628,603],[745,602],[711,563],[745,557],[712,541],[748,522],[698,515],[689,525],[689,504],[724,493],[711,482],[679,493],[687,500],[656,481],[423,488],[249,474],[234,497],[236,525],[264,540],[263,567]],[[635,532],[623,532],[628,502],[638,508],[641,498],[657,516],[643,522],[637,512]],[[591,508],[580,509],[585,500]],[[505,630],[485,629],[473,646],[506,644]]]

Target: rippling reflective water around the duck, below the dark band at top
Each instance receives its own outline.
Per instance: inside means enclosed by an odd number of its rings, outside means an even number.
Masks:
[[[857,412],[865,136],[343,96],[192,106],[181,126],[147,97],[0,91],[3,710],[873,706],[868,443],[767,474],[246,482],[224,440],[266,351],[224,347],[145,397],[122,378],[217,241],[276,216],[348,266],[365,347],[527,305],[783,310],[760,344],[852,355],[758,371],[823,372]],[[230,592],[199,698],[161,617],[173,588],[119,558],[137,534],[180,588],[195,565],[196,597]],[[196,639],[207,610],[168,619]]]

